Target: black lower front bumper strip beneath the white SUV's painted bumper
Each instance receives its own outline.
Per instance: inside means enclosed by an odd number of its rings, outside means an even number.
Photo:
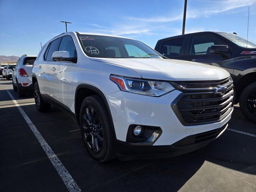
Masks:
[[[121,160],[156,159],[179,156],[206,146],[218,138],[227,127],[228,124],[225,124],[216,131],[214,130],[215,132],[212,134],[212,131],[208,131],[203,134],[190,135],[172,145],[166,146],[140,146],[115,140],[116,154]],[[196,142],[195,138],[199,138],[199,142]]]

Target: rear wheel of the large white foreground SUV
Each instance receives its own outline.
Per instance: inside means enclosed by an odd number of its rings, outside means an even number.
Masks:
[[[42,99],[38,82],[34,84],[34,98],[36,102],[36,108],[40,112],[48,112],[51,109],[51,104],[44,102]]]

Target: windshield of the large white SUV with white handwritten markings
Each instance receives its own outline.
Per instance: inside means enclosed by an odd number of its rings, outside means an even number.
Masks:
[[[162,58],[162,56],[140,41],[99,36],[78,35],[84,53],[97,58]]]

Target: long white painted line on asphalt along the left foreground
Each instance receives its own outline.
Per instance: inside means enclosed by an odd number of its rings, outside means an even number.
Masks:
[[[68,191],[70,191],[70,192],[80,192],[81,189],[78,187],[78,185],[76,184],[76,182],[74,181],[72,176],[69,174],[68,170],[66,170],[66,168],[64,167],[62,162],[60,162],[59,158],[53,152],[52,148],[44,140],[44,138],[42,137],[40,132],[37,130],[36,126],[34,126],[32,121],[30,120],[30,118],[27,116],[27,114],[24,112],[24,110],[20,107],[18,102],[14,99],[12,94],[8,90],[6,90],[6,91],[9,94],[12,101],[14,102],[14,104],[16,105],[16,107],[18,108],[18,110],[20,111],[20,113],[22,114],[23,118],[26,120],[28,126],[30,127],[30,129],[32,130],[34,135],[36,136],[37,140],[41,144],[42,148],[44,149],[44,152],[46,153],[46,155],[48,156],[48,158],[52,162],[52,165],[54,166],[54,168],[57,170],[58,174],[62,178],[62,181],[64,182],[64,184],[68,188]]]

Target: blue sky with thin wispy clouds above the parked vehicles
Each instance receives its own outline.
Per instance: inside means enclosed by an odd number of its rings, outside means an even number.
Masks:
[[[256,0],[188,0],[185,33],[237,32],[256,41]],[[115,34],[154,48],[157,40],[182,32],[184,0],[0,0],[0,55],[37,55],[44,44],[68,31]]]

